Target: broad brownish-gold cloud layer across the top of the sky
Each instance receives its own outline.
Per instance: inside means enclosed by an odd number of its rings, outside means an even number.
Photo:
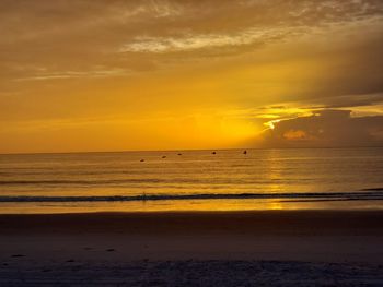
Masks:
[[[151,69],[182,64],[181,57],[161,58],[164,53],[187,52],[201,61],[206,55],[236,57],[333,26],[379,22],[382,11],[376,0],[5,0],[0,3],[0,73],[10,77],[15,64],[43,64],[67,77],[66,71],[91,73],[97,64],[109,70],[116,63],[140,70],[140,61]],[[144,55],[132,61],[129,53]]]

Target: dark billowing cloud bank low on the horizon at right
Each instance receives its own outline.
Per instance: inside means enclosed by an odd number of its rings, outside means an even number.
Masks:
[[[263,134],[268,147],[383,146],[383,116],[351,117],[350,110],[321,110],[274,123]]]

